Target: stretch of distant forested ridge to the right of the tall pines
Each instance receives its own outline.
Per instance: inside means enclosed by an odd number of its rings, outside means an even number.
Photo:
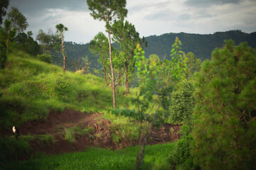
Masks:
[[[151,54],[159,56],[160,60],[170,59],[169,52],[171,45],[169,42],[178,37],[182,42],[183,52],[193,52],[200,60],[210,59],[211,52],[215,47],[222,47],[223,41],[232,39],[236,45],[240,42],[248,42],[250,47],[256,48],[256,34],[243,33],[240,30],[229,30],[225,32],[217,32],[214,34],[191,34],[191,33],[165,33],[163,35],[151,35],[146,37],[148,47],[145,50],[145,57]]]

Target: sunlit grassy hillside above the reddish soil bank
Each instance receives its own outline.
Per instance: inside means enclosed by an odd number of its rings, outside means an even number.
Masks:
[[[0,127],[9,129],[28,120],[47,118],[50,110],[72,109],[102,112],[112,107],[112,92],[94,75],[66,72],[53,64],[36,60],[23,52],[9,55],[9,67],[0,71]],[[117,105],[126,106],[131,96],[120,95]]]

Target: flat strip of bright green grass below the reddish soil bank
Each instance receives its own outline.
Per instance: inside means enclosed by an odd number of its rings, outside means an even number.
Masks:
[[[146,146],[143,169],[171,169],[170,152],[176,143]],[[112,151],[110,149],[90,148],[85,152],[60,155],[41,154],[28,161],[8,164],[9,169],[135,169],[137,147]]]

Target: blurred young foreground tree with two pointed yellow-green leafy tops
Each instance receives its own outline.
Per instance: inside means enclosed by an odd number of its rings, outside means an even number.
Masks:
[[[132,100],[137,110],[130,111],[127,108],[112,110],[115,115],[126,115],[136,118],[141,123],[146,122],[139,139],[136,169],[142,169],[144,150],[151,128],[160,126],[169,113],[170,94],[174,88],[170,82],[176,82],[185,77],[186,64],[179,45],[181,42],[176,38],[173,45],[174,50],[171,50],[171,56],[173,56],[171,61],[152,62],[148,65],[145,61],[144,51],[138,44],[134,50],[134,58],[139,78],[139,95]]]

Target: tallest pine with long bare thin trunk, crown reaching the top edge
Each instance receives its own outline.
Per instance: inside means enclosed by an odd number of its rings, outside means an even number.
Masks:
[[[113,108],[116,108],[115,98],[115,86],[114,86],[114,69],[112,64],[112,52],[111,52],[111,26],[114,19],[123,19],[127,16],[126,0],[87,0],[87,5],[92,11],[90,14],[94,19],[105,21],[108,39],[109,39],[109,50],[110,50],[110,69],[112,79],[112,96],[113,96]]]

